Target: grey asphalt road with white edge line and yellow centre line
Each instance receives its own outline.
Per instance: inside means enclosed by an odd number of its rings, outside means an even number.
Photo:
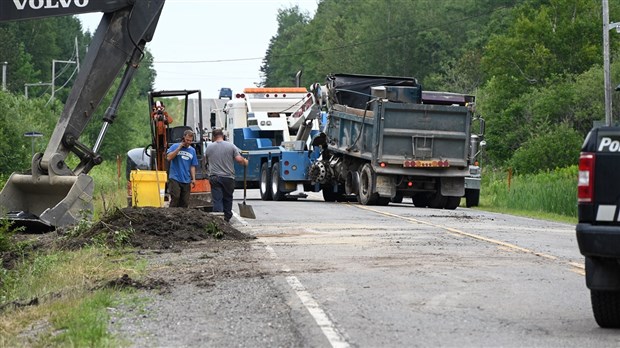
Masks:
[[[593,319],[574,225],[422,209],[408,199],[370,207],[314,194],[290,202],[261,201],[258,190],[248,197],[257,218],[234,223],[258,238],[248,258],[237,259],[243,276],[208,291],[173,292],[168,301],[190,293],[201,303],[171,319],[194,331],[160,328],[143,345],[620,345],[618,331]]]

